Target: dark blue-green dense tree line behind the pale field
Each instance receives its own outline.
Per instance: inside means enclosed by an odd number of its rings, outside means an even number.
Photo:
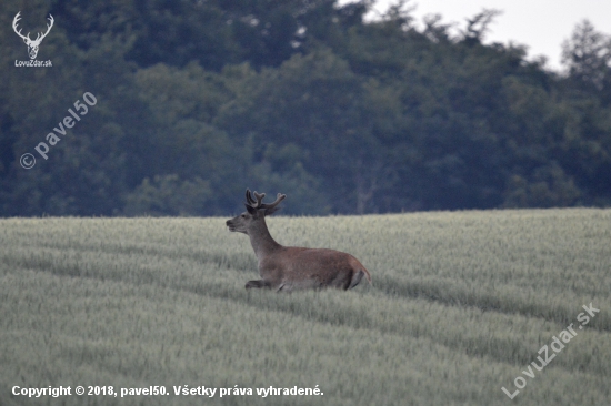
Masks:
[[[289,214],[611,204],[609,35],[578,24],[559,73],[484,44],[493,10],[455,34],[371,6],[2,2],[0,215],[227,215],[246,187]],[[52,14],[52,67],[16,67],[18,12],[32,33]]]

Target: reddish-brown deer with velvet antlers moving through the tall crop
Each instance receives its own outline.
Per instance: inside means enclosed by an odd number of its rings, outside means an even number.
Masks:
[[[246,288],[272,288],[276,292],[335,287],[348,291],[363,276],[371,285],[369,271],[354,256],[328,248],[283,246],[271,236],[266,217],[280,210],[287,195],[278,193],[273,203],[263,203],[264,193],[247,189],[247,211],[226,222],[230,232],[247,234],[257,255],[261,280],[249,281]]]

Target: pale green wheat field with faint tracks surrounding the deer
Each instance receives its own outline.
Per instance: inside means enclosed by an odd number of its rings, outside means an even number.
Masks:
[[[244,290],[256,257],[226,220],[0,220],[0,405],[611,404],[611,210],[273,216],[279,243],[373,280],[292,294]]]

